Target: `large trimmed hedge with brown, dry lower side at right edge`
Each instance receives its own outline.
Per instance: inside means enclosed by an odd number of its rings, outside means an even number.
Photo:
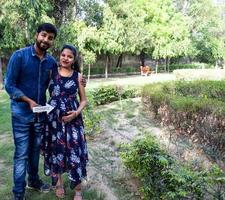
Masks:
[[[225,82],[194,81],[146,85],[145,106],[177,134],[210,147],[214,158],[225,153]],[[219,154],[218,154],[219,152]]]

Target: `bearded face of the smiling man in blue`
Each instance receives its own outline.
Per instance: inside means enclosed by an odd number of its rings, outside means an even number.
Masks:
[[[42,51],[46,51],[53,45],[55,34],[41,31],[40,33],[36,33],[35,38],[37,47]]]

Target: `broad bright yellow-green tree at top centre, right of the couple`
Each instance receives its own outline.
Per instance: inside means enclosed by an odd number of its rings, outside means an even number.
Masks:
[[[145,55],[169,61],[187,54],[187,19],[176,11],[172,0],[119,1],[116,6],[113,0],[108,2],[125,29],[123,52],[139,55],[141,65],[145,65]]]

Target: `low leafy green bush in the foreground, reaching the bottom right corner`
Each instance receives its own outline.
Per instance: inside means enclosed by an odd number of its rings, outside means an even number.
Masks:
[[[140,190],[146,200],[225,198],[223,170],[215,165],[209,171],[193,171],[162,150],[151,135],[122,145],[120,156],[140,179]]]

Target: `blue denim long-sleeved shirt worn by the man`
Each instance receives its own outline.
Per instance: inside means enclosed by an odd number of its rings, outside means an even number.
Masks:
[[[27,96],[39,105],[45,105],[50,72],[56,67],[56,60],[47,53],[40,60],[33,45],[13,53],[5,79],[5,89],[11,99],[12,116],[25,122],[32,122],[37,118],[39,121],[45,117],[44,113],[34,114],[28,103],[19,99]]]

